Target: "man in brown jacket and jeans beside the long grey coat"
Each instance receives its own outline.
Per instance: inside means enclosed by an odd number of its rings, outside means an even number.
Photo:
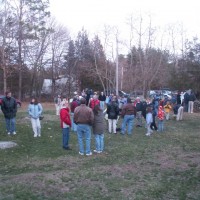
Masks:
[[[86,99],[81,98],[80,106],[74,110],[74,122],[77,124],[77,136],[79,144],[79,154],[86,156],[92,155],[90,149],[91,143],[91,125],[94,121],[94,114],[91,108],[86,106]],[[83,139],[86,141],[86,150],[84,151]]]

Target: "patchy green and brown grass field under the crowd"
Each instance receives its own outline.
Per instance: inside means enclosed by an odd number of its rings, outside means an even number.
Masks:
[[[62,149],[54,107],[44,107],[41,138],[33,138],[26,106],[18,111],[16,136],[6,135],[0,113],[0,140],[18,144],[0,149],[0,200],[200,199],[200,114],[169,120],[164,133],[151,137],[144,127],[131,136],[105,133],[105,152],[86,157],[73,132],[72,151]]]

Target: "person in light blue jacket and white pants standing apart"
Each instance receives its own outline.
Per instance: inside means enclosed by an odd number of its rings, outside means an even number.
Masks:
[[[41,137],[41,124],[39,117],[43,111],[42,105],[36,98],[32,98],[28,106],[28,114],[31,117],[31,125],[34,133],[34,137]]]

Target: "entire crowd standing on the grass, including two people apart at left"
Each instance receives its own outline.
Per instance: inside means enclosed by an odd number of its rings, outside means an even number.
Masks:
[[[62,147],[71,150],[69,141],[70,132],[73,131],[77,134],[79,154],[90,156],[93,132],[95,138],[93,152],[102,153],[106,125],[109,134],[119,132],[121,135],[131,135],[135,126],[145,127],[146,136],[150,136],[154,131],[161,133],[165,130],[165,120],[173,117],[179,121],[183,119],[184,111],[193,113],[195,100],[192,90],[184,94],[179,92],[173,98],[154,96],[147,99],[140,97],[131,99],[115,94],[105,95],[104,92],[91,93],[91,90],[82,91],[80,95],[76,93],[73,99],[57,95],[54,103],[56,115],[60,118]],[[6,92],[6,96],[2,99],[1,109],[5,117],[7,134],[15,135],[17,103],[10,91]],[[43,107],[37,98],[31,99],[27,112],[31,120],[33,136],[41,137],[40,118]]]

